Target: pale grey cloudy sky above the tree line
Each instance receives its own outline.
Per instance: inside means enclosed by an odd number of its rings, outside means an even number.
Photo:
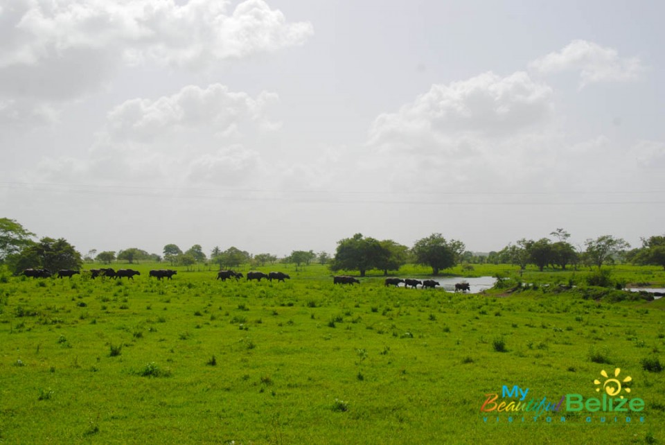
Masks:
[[[665,233],[665,3],[0,0],[0,217],[86,254]]]

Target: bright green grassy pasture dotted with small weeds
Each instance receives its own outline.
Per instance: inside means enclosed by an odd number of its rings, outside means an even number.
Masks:
[[[0,272],[1,443],[665,440],[665,302],[542,286],[585,272],[528,270],[520,279],[539,286],[465,295],[379,276],[335,286],[317,265],[259,268],[287,272],[283,283],[207,269],[158,281],[156,267],[134,266],[133,281]],[[516,276],[507,265],[453,272]],[[665,282],[656,268],[614,277]],[[641,412],[481,413],[504,385],[554,402],[600,396],[594,379],[616,368]]]

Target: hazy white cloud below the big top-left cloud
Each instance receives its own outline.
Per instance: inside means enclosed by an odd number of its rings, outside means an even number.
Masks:
[[[270,128],[267,108],[278,100],[252,97],[220,84],[188,85],[156,99],[135,98],[114,107],[84,159],[42,159],[26,180],[123,184],[260,182],[258,151],[249,148]]]

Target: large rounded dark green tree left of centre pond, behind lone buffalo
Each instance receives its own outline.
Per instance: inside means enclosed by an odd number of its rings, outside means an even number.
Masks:
[[[364,238],[355,234],[351,238],[337,241],[337,252],[330,263],[330,270],[358,270],[364,277],[367,270],[377,267],[380,257],[384,255],[383,247],[374,238]]]

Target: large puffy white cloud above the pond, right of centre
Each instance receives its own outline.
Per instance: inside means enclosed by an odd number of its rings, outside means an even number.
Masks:
[[[473,152],[470,139],[513,134],[547,121],[552,90],[518,71],[484,73],[450,85],[432,85],[397,113],[375,119],[369,145],[384,152]]]

